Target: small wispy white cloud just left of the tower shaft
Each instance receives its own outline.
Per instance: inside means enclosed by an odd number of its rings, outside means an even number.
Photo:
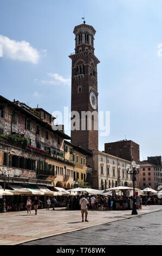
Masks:
[[[47,84],[67,84],[68,86],[70,86],[71,83],[71,79],[70,78],[63,78],[62,76],[60,76],[59,74],[53,74],[53,73],[48,73],[47,74],[49,77],[52,78],[52,80],[41,80],[42,83],[47,83]]]

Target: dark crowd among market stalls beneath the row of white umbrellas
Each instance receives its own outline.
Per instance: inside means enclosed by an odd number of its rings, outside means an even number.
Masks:
[[[55,197],[48,197],[47,200],[39,200],[38,209],[47,209],[65,207],[66,210],[80,210],[80,199],[82,195],[64,197],[64,200]],[[133,206],[133,197],[126,196],[88,196],[89,210],[131,210]],[[31,199],[30,210],[34,210],[34,200]],[[27,202],[15,202],[7,200],[5,203],[6,211],[22,211],[27,210]],[[29,204],[29,203],[28,203]],[[142,205],[162,204],[162,199],[157,196],[137,196],[135,197],[137,209],[141,209]],[[0,212],[2,212],[3,200],[0,202]],[[29,206],[28,206],[29,208]]]

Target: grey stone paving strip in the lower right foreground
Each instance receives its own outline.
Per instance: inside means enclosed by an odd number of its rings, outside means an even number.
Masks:
[[[56,235],[25,245],[162,245],[162,211]]]

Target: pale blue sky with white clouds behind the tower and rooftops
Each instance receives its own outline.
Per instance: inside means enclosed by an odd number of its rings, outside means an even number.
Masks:
[[[0,94],[70,111],[68,56],[83,16],[96,30],[99,111],[110,111],[99,149],[126,138],[140,145],[140,160],[161,155],[161,0],[1,0]]]

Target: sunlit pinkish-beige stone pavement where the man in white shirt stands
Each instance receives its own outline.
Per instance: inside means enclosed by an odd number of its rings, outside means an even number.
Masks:
[[[149,214],[162,210],[162,205],[142,206],[138,215]],[[132,211],[89,211],[89,222],[81,222],[81,211],[66,211],[56,208],[55,211],[38,210],[38,215],[26,211],[7,212],[0,214],[1,233],[0,245],[16,245],[19,243],[43,239],[63,233],[70,233],[103,223],[110,223],[126,218],[134,218]],[[135,217],[136,218],[136,217]],[[2,224],[3,223],[3,224]]]

